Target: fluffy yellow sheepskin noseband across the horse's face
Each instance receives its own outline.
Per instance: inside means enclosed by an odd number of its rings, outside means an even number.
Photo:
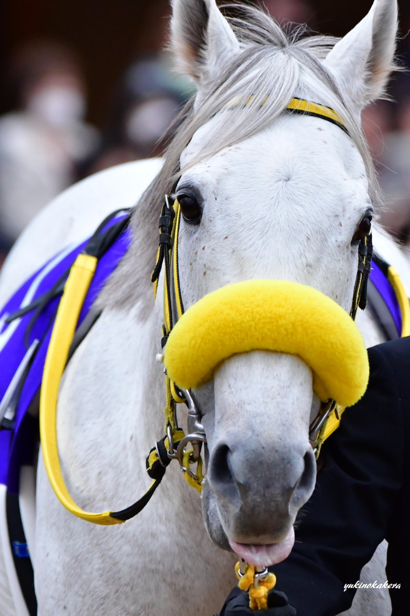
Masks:
[[[257,350],[298,355],[323,402],[349,407],[366,391],[368,354],[355,322],[320,291],[284,280],[248,280],[204,296],[169,334],[164,363],[169,378],[190,389],[231,355]]]

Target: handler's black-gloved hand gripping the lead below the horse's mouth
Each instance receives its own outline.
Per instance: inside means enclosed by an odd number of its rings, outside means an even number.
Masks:
[[[249,607],[249,595],[236,586],[225,601],[219,616],[247,616],[248,614],[254,616],[257,614],[260,614],[260,616],[297,616],[294,607],[289,606],[286,594],[279,590],[269,592],[267,610],[254,611]],[[215,614],[215,616],[218,615]]]

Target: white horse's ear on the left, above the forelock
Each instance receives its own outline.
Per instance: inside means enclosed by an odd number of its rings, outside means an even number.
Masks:
[[[171,47],[196,86],[214,81],[239,43],[215,0],[172,0]]]

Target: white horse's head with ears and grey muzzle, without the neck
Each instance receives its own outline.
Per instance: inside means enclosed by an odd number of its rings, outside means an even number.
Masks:
[[[173,10],[172,46],[198,88],[175,168],[185,308],[226,285],[263,279],[310,286],[348,312],[358,242],[379,202],[360,113],[392,69],[396,2],[376,0],[339,41],[286,35],[256,9],[228,20],[214,0],[174,0]],[[289,112],[295,97],[331,108],[345,130]],[[236,353],[196,399],[207,438],[209,535],[254,564],[282,560],[315,485],[312,366],[286,352]]]

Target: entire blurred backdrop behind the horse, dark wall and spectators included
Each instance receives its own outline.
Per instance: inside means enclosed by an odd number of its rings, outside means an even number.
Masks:
[[[249,4],[261,4],[248,0]],[[371,0],[265,0],[282,22],[342,36]],[[410,67],[410,2],[399,0]],[[161,154],[158,139],[193,94],[164,52],[169,0],[4,0],[0,7],[0,262],[42,206],[113,164]],[[410,235],[410,73],[363,124],[387,195],[384,223]]]

